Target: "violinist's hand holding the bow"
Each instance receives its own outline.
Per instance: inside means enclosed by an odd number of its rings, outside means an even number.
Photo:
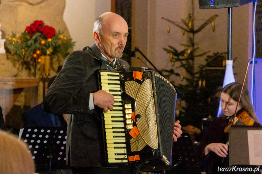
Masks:
[[[228,148],[224,143],[211,143],[205,147],[205,155],[210,151],[216,153],[220,157],[226,157]]]

